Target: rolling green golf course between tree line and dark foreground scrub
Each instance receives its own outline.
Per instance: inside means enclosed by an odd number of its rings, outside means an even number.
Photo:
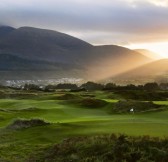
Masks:
[[[73,137],[168,135],[168,101],[153,101],[159,107],[151,110],[122,113],[113,111],[124,100],[113,92],[1,92],[5,94],[0,99],[1,161],[26,161],[33,153]]]

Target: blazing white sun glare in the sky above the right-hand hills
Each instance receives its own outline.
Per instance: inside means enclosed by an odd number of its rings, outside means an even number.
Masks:
[[[168,58],[168,42],[130,44],[125,47],[130,49],[147,49],[158,54],[160,58]]]

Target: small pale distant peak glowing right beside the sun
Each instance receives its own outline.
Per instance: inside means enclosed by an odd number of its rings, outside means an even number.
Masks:
[[[146,49],[136,49],[134,51],[139,52],[139,53],[143,54],[144,56],[147,56],[153,60],[158,60],[158,59],[162,58],[159,54],[152,52],[152,51],[149,51],[149,50],[146,50]]]

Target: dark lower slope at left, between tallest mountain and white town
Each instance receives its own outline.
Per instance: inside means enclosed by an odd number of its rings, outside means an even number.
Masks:
[[[59,79],[82,77],[85,70],[74,64],[28,60],[10,54],[0,54],[0,80]]]

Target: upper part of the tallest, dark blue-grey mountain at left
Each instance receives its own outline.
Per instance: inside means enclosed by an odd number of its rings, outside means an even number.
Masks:
[[[0,39],[1,53],[48,61],[71,59],[71,51],[89,47],[89,43],[67,34],[32,27],[21,27]]]

